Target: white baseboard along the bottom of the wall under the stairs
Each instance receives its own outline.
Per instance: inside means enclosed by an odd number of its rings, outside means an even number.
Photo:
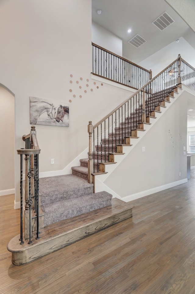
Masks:
[[[188,181],[188,179],[186,178],[186,179],[179,180],[179,181],[176,181],[176,182],[172,182],[172,183],[169,183],[169,184],[165,184],[165,185],[162,185],[162,186],[159,186],[159,187],[155,187],[155,188],[152,188],[152,189],[149,189],[149,190],[138,192],[138,193],[135,193],[135,194],[132,194],[132,195],[129,195],[129,196],[121,197],[120,199],[125,201],[125,202],[129,202],[129,201],[132,201],[132,200],[136,200],[136,199],[145,197],[147,195],[151,195],[151,194],[154,194],[154,193],[157,193],[157,192],[160,192],[160,191],[163,191],[163,190],[166,190],[166,189],[169,189],[169,188],[172,188],[172,187],[187,183],[187,181]]]

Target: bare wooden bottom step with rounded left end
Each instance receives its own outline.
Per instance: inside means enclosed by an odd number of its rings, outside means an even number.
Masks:
[[[32,244],[28,240],[19,244],[19,235],[7,245],[12,252],[12,263],[22,265],[41,256],[59,250],[91,234],[132,217],[133,205],[120,199],[112,199],[112,205],[76,216],[40,229],[40,238],[33,233]]]

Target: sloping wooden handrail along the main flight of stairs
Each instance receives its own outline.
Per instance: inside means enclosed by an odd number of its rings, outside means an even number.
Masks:
[[[176,61],[179,60],[179,57],[173,61],[172,63],[170,63],[165,69],[163,69],[160,73],[158,73],[156,76],[154,76],[149,82],[147,82],[143,87],[141,87],[139,90],[137,90],[135,93],[133,93],[129,98],[127,98],[126,100],[124,100],[119,106],[117,106],[114,110],[112,110],[108,115],[106,115],[105,117],[103,117],[100,121],[98,121],[94,126],[93,129],[97,128],[99,125],[101,125],[101,123],[103,123],[108,117],[110,117],[112,114],[114,114],[117,110],[119,110],[120,107],[122,107],[126,102],[128,102],[129,100],[131,100],[135,95],[137,95],[139,92],[143,91],[143,89],[145,87],[147,87],[153,80],[155,80],[158,76],[160,76],[163,72],[165,72],[165,70],[167,70],[170,66],[172,66],[172,64],[174,64]]]

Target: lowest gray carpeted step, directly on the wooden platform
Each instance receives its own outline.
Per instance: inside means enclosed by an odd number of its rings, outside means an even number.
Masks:
[[[42,206],[42,210],[45,213],[44,226],[109,205],[112,205],[112,195],[105,191],[70,198],[52,204],[48,203]]]

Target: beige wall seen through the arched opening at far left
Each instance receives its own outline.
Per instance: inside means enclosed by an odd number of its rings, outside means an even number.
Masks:
[[[14,96],[1,86],[0,105],[0,193],[6,195],[15,187],[15,114]]]

